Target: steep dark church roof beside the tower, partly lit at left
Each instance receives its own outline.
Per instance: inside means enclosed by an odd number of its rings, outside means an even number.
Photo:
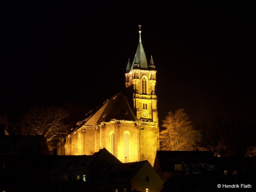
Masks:
[[[92,114],[88,114],[83,121],[78,123],[77,128],[80,128],[82,125],[98,126],[110,121],[137,121],[132,107],[123,92],[117,93],[104,102],[98,110],[92,112]]]

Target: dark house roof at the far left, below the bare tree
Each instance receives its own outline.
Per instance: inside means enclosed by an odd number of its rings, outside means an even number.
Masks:
[[[43,135],[4,135],[0,137],[0,154],[36,153],[50,155]]]

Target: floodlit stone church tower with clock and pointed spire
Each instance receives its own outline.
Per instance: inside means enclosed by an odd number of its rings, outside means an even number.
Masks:
[[[139,25],[139,27],[141,26]],[[149,64],[147,62],[141,43],[141,30],[139,30],[139,44],[132,64],[130,59],[128,60],[125,85],[132,99],[134,113],[140,122],[140,159],[151,160],[155,156],[148,154],[148,151],[152,151],[152,148],[159,150],[157,97],[155,92],[156,69],[152,56]]]

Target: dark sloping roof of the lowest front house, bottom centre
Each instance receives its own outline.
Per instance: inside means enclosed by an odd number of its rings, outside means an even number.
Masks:
[[[116,183],[132,180],[140,168],[148,162],[138,161],[132,163],[123,163],[106,166],[92,181],[97,183]],[[148,163],[149,164],[149,163]],[[150,165],[150,164],[149,164]]]

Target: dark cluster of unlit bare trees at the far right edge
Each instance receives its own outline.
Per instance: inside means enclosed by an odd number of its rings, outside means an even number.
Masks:
[[[255,128],[243,120],[223,120],[220,116],[196,125],[196,143],[215,156],[255,156]]]

